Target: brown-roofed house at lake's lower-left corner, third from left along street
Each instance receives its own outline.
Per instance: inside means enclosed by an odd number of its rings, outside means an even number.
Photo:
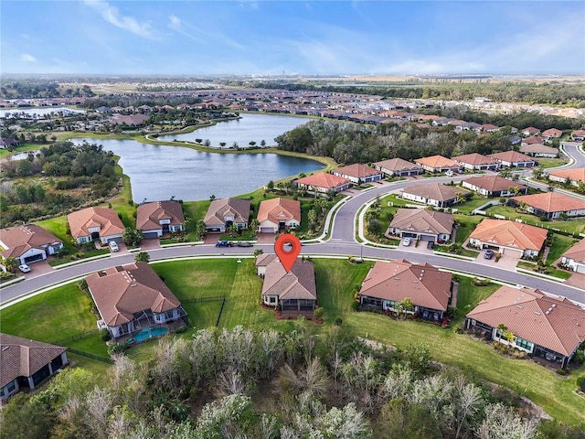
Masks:
[[[136,229],[143,230],[146,239],[184,230],[184,222],[183,206],[172,199],[141,204],[136,212]]]

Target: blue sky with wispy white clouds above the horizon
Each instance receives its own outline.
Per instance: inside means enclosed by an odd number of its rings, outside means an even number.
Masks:
[[[14,1],[3,73],[585,74],[583,1]]]

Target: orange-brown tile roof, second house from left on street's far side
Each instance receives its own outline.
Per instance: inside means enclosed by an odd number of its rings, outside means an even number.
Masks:
[[[114,209],[88,208],[69,213],[69,230],[73,238],[89,236],[90,227],[101,227],[100,236],[118,235],[124,232],[122,220]]]

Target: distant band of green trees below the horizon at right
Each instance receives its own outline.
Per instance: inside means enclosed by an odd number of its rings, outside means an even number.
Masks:
[[[243,85],[243,83],[242,83]],[[291,91],[328,91],[338,93],[372,94],[384,98],[441,99],[445,101],[473,101],[483,96],[495,102],[525,102],[531,104],[566,105],[585,108],[585,87],[580,84],[543,82],[501,83],[388,83],[371,86],[328,85],[318,82],[295,83],[290,81],[260,81],[250,84],[261,89],[286,89]]]

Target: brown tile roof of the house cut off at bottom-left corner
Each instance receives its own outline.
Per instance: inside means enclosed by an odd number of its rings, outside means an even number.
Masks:
[[[0,334],[0,388],[18,377],[30,377],[67,350],[27,338]]]

